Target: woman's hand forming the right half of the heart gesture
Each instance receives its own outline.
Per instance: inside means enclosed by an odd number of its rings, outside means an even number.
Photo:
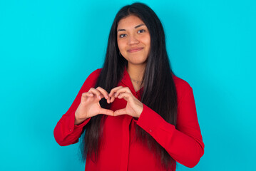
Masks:
[[[123,88],[123,86],[119,86],[113,88],[111,93],[109,93],[110,103],[112,103],[115,98],[123,98],[127,101],[126,108],[116,110],[113,115],[130,115],[135,118],[139,118],[140,114],[143,111],[143,103],[140,102],[137,98],[134,97],[133,93],[131,93],[128,87]]]

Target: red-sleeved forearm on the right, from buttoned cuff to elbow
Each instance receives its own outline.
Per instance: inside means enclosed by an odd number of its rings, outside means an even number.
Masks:
[[[187,167],[198,164],[204,153],[204,144],[198,128],[188,128],[190,133],[182,133],[146,105],[136,122],[164,147],[174,160]]]

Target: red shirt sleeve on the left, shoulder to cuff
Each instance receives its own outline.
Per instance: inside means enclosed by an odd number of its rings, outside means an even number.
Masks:
[[[61,119],[58,121],[56,127],[54,128],[53,135],[59,145],[71,145],[78,142],[78,139],[80,138],[83,131],[83,127],[91,119],[88,118],[87,120],[84,120],[80,125],[74,124],[76,109],[81,102],[81,95],[82,93],[88,92],[91,87],[94,87],[100,72],[101,69],[98,69],[93,71],[93,73],[88,76],[86,81],[83,83],[83,86],[79,90],[78,95],[76,95],[76,98],[73,101],[71,107],[64,115],[62,115]]]

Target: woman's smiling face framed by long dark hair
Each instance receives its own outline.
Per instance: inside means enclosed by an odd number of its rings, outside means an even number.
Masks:
[[[117,28],[118,48],[129,65],[144,66],[150,52],[150,33],[137,16],[121,19]]]

